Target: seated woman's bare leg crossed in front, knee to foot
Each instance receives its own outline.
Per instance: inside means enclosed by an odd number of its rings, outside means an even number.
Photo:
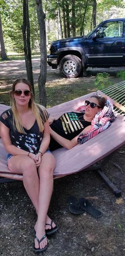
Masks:
[[[42,162],[38,169],[40,178],[40,190],[38,199],[38,219],[35,225],[36,236],[40,240],[45,235],[45,223],[47,211],[49,208],[52,192],[53,192],[53,170],[55,167],[55,158],[51,153],[45,153],[42,156]],[[47,238],[40,243],[40,248],[47,245]],[[35,239],[35,247],[39,248]]]

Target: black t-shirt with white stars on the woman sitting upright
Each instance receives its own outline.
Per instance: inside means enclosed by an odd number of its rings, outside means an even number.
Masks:
[[[43,120],[43,123],[46,122],[46,120],[49,118],[49,114],[44,109],[44,111],[40,110],[41,118]],[[1,116],[0,116],[0,121],[6,125],[9,130],[10,130],[10,139],[12,141],[12,144],[15,145],[16,147],[26,150],[28,152],[37,154],[40,145],[41,145],[41,140],[43,136],[43,132],[40,132],[39,126],[37,124],[37,121],[35,120],[33,126],[27,130],[23,127],[24,133],[20,133],[17,130],[14,129],[13,127],[13,112],[12,109],[8,109],[4,111]]]

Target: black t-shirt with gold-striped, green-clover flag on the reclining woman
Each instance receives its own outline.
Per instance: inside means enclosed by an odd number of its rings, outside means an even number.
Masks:
[[[84,113],[67,112],[59,119],[54,120],[50,127],[63,138],[72,140],[89,125],[91,125],[91,122],[84,120]],[[58,142],[50,137],[49,148],[51,151],[61,147]]]

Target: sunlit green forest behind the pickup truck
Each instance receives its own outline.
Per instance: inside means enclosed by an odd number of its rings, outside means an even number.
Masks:
[[[125,0],[43,0],[47,49],[53,40],[87,35],[106,19],[125,17]],[[40,34],[34,0],[28,1],[32,53],[40,52]],[[23,0],[0,0],[6,53],[23,54]]]

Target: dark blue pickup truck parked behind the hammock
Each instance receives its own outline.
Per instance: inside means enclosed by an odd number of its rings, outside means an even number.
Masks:
[[[64,77],[74,78],[87,67],[125,66],[125,18],[101,22],[86,36],[53,41],[47,63]]]

